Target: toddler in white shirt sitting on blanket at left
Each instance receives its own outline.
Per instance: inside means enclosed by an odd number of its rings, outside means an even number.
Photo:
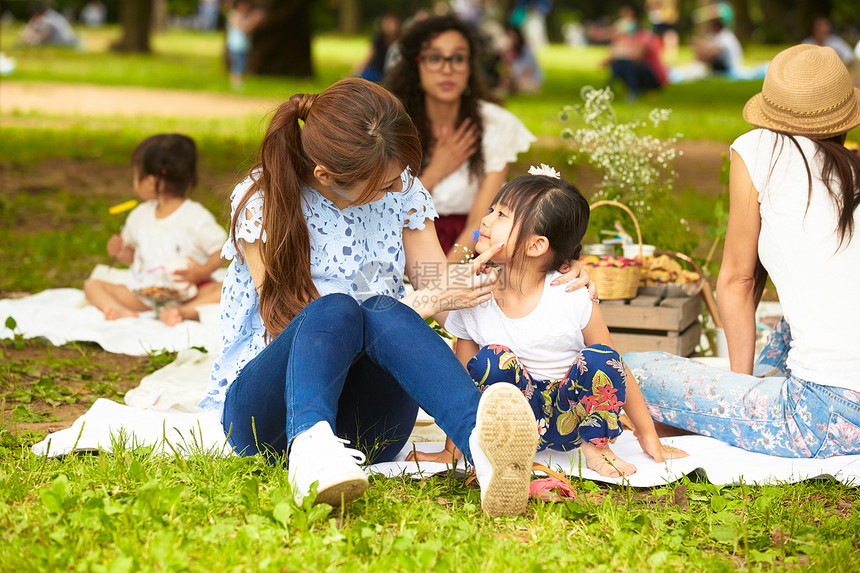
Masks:
[[[197,320],[197,307],[221,298],[221,283],[212,273],[221,266],[227,239],[212,213],[187,197],[197,184],[197,146],[187,135],[159,133],[137,145],[131,164],[134,190],[144,202],[107,244],[115,261],[131,267],[130,279],[90,279],[84,294],[106,320],[136,317],[153,307],[168,326]]]

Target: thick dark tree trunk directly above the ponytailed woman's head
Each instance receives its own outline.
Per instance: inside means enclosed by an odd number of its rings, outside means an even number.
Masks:
[[[312,0],[269,0],[266,17],[251,36],[248,71],[264,76],[313,76]]]

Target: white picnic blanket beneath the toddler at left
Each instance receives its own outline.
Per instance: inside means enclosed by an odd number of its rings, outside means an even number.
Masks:
[[[127,270],[97,265],[91,275],[111,282],[121,282]],[[217,352],[220,344],[218,305],[202,305],[200,320],[186,320],[167,326],[152,311],[137,318],[105,320],[96,307],[87,304],[84,293],[75,288],[48,289],[18,299],[0,299],[0,338],[44,337],[51,344],[95,342],[108,352],[143,356],[166,350],[202,347]],[[6,328],[11,317],[14,330]]]

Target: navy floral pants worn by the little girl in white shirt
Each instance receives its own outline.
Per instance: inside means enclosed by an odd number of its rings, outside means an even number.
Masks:
[[[608,346],[586,346],[561,380],[534,380],[508,347],[484,346],[466,366],[483,392],[496,382],[522,390],[538,424],[538,449],[572,450],[583,440],[605,446],[621,435],[624,365]]]

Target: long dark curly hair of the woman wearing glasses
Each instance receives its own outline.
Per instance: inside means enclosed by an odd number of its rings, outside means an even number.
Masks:
[[[421,148],[424,151],[424,165],[422,167],[427,166],[434,137],[425,109],[424,90],[421,88],[418,70],[419,57],[421,50],[426,48],[429,42],[440,34],[449,31],[460,32],[469,44],[469,81],[460,98],[458,125],[466,118],[471,120],[472,125],[478,128],[477,145],[479,149],[483,144],[484,123],[478,110],[478,102],[488,100],[498,103],[497,98],[490,93],[481,76],[483,69],[480,65],[482,47],[475,32],[468,24],[454,16],[440,16],[428,18],[410,26],[399,40],[401,59],[386,75],[385,87],[403,101],[406,111],[418,129],[418,137],[421,139]],[[483,153],[475,153],[469,158],[469,173],[477,178],[484,175]]]

